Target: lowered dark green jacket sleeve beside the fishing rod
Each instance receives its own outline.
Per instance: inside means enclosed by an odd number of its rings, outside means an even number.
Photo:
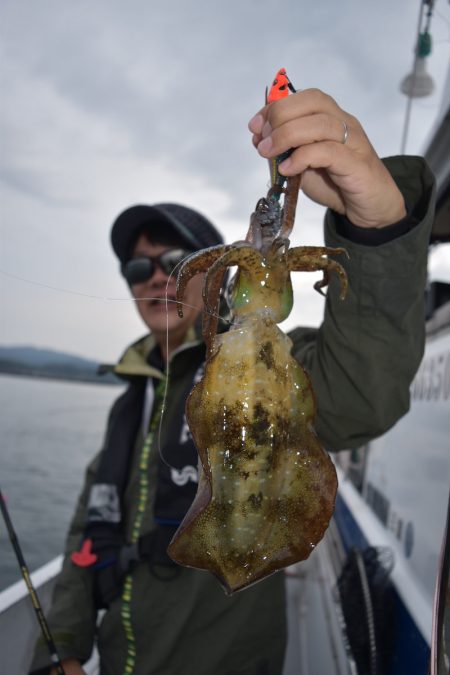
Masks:
[[[86,504],[99,456],[87,469],[86,481],[66,540],[63,568],[58,576],[47,616],[58,655],[63,659],[87,661],[94,645],[96,609],[92,598],[92,575],[76,567],[70,554],[79,549],[86,524]],[[44,675],[51,667],[48,648],[42,638],[36,643],[30,673]]]

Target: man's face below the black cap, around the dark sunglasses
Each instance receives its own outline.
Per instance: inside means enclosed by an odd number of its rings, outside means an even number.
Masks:
[[[153,244],[144,234],[141,234],[134,246],[132,258],[141,256],[153,258],[171,248],[179,248],[179,246]],[[150,279],[131,286],[131,293],[136,300],[143,321],[160,345],[164,344],[168,330],[172,349],[183,342],[189,327],[195,322],[203,306],[203,275],[199,274],[191,279],[186,287],[183,298],[183,303],[186,304],[183,304],[183,317],[180,318],[174,302],[176,279],[176,272],[169,279],[169,276],[156,264]]]

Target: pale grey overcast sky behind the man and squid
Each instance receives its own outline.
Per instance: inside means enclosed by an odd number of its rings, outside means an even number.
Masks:
[[[135,203],[198,208],[242,239],[268,170],[247,122],[285,67],[356,115],[381,156],[398,154],[419,0],[2,0],[0,344],[105,361],[145,332],[109,244]],[[437,0],[428,71],[407,152],[421,154],[450,54]],[[323,210],[300,199],[293,245],[322,242]],[[440,278],[448,255],[437,252]],[[13,276],[10,276],[13,275]],[[317,325],[312,275],[287,326]],[[32,283],[28,283],[32,282]]]

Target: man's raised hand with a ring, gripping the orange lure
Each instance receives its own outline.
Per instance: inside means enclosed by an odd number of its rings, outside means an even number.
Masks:
[[[354,225],[385,227],[406,216],[403,196],[361,124],[322,91],[305,89],[265,106],[249,129],[263,157],[293,148],[280,173],[301,173],[310,199]]]

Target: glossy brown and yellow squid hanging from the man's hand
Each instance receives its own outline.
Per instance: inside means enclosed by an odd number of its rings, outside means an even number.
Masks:
[[[286,180],[275,166],[245,240],[192,254],[177,278],[182,313],[186,285],[205,274],[207,358],[186,403],[199,452],[198,490],[168,554],[211,572],[228,594],[306,559],[334,510],[336,471],[314,431],[315,395],[278,324],[293,306],[292,272],[322,270],[319,292],[336,274],[345,297],[345,270],[330,256],[346,252],[289,247],[299,188],[299,176]],[[229,293],[232,320],[218,333],[229,267],[238,270]]]

